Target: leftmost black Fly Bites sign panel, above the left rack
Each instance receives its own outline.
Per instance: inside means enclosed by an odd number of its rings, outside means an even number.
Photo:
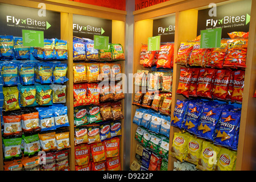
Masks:
[[[44,31],[44,38],[60,39],[60,13],[0,3],[0,35],[22,36],[22,30]]]

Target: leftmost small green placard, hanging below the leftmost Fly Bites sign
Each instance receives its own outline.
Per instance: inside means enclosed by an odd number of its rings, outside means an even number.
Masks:
[[[36,30],[22,30],[23,46],[44,47],[44,32]]]

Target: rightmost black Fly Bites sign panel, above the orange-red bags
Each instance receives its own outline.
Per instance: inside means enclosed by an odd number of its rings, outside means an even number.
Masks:
[[[209,16],[210,10],[198,11],[197,35],[201,30],[213,28],[222,28],[222,38],[229,38],[228,33],[233,31],[249,31],[251,0],[217,6],[217,16]]]

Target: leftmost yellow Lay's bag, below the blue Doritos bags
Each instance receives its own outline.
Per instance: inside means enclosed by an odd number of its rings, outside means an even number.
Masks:
[[[172,140],[172,147],[169,152],[171,156],[183,162],[183,159],[187,155],[187,143],[189,136],[184,133],[174,133],[174,139]]]

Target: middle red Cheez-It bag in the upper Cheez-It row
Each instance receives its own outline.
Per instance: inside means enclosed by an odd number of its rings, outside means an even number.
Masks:
[[[106,160],[106,146],[104,143],[99,142],[91,144],[90,151],[92,152],[94,163]]]

